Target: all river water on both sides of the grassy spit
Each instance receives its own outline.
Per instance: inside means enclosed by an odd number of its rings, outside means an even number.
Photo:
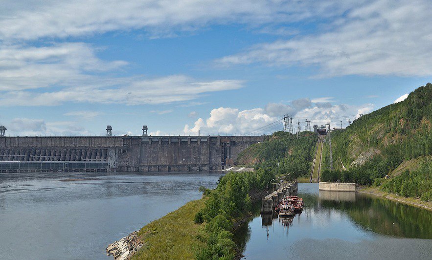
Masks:
[[[112,259],[106,246],[187,201],[220,173],[2,173],[1,259]],[[432,212],[299,183],[292,219],[254,217],[235,241],[253,259],[430,259]]]

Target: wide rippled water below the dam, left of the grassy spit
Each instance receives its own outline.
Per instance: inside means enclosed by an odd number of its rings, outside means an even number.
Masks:
[[[0,259],[112,259],[109,243],[200,198],[219,176],[0,173]]]

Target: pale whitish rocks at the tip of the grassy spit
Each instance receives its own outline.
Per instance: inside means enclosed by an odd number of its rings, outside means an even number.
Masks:
[[[138,231],[135,231],[110,244],[107,247],[107,255],[112,255],[114,260],[128,260],[143,245],[144,243],[138,237]]]

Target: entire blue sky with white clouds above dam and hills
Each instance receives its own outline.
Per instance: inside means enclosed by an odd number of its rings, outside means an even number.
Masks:
[[[431,82],[430,0],[2,0],[8,136],[346,127]],[[342,122],[341,122],[342,121]],[[269,126],[270,127],[266,127]]]

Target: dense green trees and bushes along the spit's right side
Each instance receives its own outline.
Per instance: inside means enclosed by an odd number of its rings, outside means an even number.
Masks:
[[[262,191],[274,175],[266,169],[254,172],[227,173],[220,178],[216,190],[200,188],[207,196],[205,207],[194,221],[206,222],[209,236],[206,246],[197,252],[198,260],[228,260],[235,258],[236,244],[232,240],[232,223],[251,211],[250,193]]]

